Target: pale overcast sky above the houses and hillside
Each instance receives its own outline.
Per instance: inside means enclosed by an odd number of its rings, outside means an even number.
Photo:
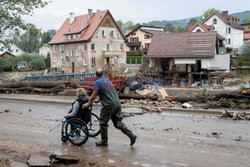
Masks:
[[[109,9],[116,20],[148,22],[177,20],[200,16],[205,10],[216,8],[229,13],[250,10],[250,0],[50,0],[25,20],[43,30],[58,29],[70,12],[87,14],[88,9]]]

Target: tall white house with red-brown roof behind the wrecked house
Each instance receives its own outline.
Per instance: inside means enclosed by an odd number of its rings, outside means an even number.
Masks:
[[[214,31],[225,38],[224,45],[227,52],[231,52],[233,49],[239,49],[243,44],[244,27],[239,21],[238,17],[228,15],[228,11],[223,11],[222,13],[214,12],[202,22],[202,25],[212,25]]]

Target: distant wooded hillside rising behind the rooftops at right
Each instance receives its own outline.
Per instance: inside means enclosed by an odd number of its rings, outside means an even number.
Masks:
[[[244,12],[232,13],[230,15],[237,16],[237,17],[240,18],[240,20],[243,20],[243,19],[246,19],[246,18],[250,18],[250,10],[244,11]],[[172,23],[175,26],[177,26],[177,25],[184,26],[184,25],[186,25],[189,22],[189,20],[191,18],[195,18],[198,21],[200,21],[200,16],[198,16],[198,17],[190,17],[190,18],[186,18],[186,19],[172,20],[172,21],[168,21],[168,20],[162,20],[162,21],[153,20],[153,21],[148,22],[148,24],[149,25],[154,25],[154,26],[159,26],[159,27],[165,27],[165,25],[170,22],[170,23]]]

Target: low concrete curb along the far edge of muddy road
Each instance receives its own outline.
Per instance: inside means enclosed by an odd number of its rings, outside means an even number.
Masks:
[[[9,97],[0,97],[1,101],[13,101],[13,102],[32,102],[32,103],[44,103],[44,104],[60,104],[60,105],[71,105],[72,101],[59,101],[59,100],[38,100],[38,99],[21,99],[21,98],[9,98]],[[94,107],[101,107],[101,104],[94,104]],[[132,106],[132,105],[122,105],[122,108],[142,108],[146,106]],[[223,109],[215,110],[215,109],[187,109],[187,108],[166,108],[166,107],[158,107],[163,112],[172,112],[172,113],[183,113],[183,114],[211,114],[211,115],[221,115]],[[228,111],[233,114],[235,111]],[[244,110],[244,112],[250,114],[250,110]]]

